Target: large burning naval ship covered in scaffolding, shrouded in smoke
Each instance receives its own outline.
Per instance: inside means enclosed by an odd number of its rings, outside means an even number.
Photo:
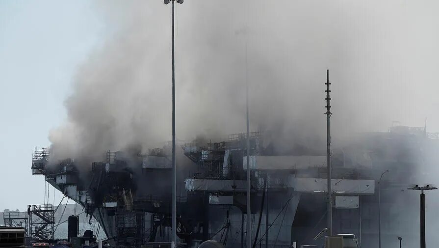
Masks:
[[[390,244],[404,234],[416,239],[416,232],[404,225],[417,214],[417,205],[399,204],[403,199],[417,202],[417,198],[401,189],[416,182],[423,153],[428,152],[427,147],[434,150],[431,147],[437,137],[425,133],[425,128],[395,125],[388,132],[357,134],[339,141],[343,145],[335,147],[331,156],[333,233],[354,234],[359,247],[376,247],[380,189],[381,221],[386,223],[383,242]],[[293,149],[279,154],[269,142],[264,143],[263,135],[250,133],[251,177],[247,178],[245,134],[218,142],[181,144],[180,151],[177,235],[181,245],[197,247],[213,239],[227,248],[243,248],[247,218],[251,218],[253,248],[323,243],[323,239],[313,238],[327,226],[324,152]],[[54,163],[50,149],[40,149],[33,153],[32,173],[44,175],[99,221],[109,246],[165,246],[171,240],[169,158],[169,149],[164,147],[148,154],[107,151],[102,161],[65,159]],[[383,176],[386,170],[391,172]],[[246,210],[247,180],[251,180],[250,215]],[[405,208],[406,214],[389,213],[395,207]]]

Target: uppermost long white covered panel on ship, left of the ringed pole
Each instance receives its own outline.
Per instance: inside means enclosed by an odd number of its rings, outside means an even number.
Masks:
[[[247,169],[247,156],[243,160]],[[295,169],[326,164],[325,156],[250,156],[251,169]]]

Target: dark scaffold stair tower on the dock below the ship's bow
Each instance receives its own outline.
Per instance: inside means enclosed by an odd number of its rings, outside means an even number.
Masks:
[[[52,204],[28,205],[29,236],[32,239],[53,239],[53,227],[55,224],[55,211]]]

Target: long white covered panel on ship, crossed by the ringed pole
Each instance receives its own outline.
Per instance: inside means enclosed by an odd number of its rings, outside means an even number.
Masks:
[[[293,187],[298,192],[326,192],[326,178],[293,178]],[[374,180],[332,179],[331,189],[336,193],[373,194]]]

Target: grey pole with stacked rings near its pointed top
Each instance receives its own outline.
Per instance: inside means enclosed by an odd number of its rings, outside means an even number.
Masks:
[[[329,97],[329,69],[326,70],[326,157],[328,165],[328,190],[327,190],[327,202],[328,202],[328,235],[332,236],[332,193],[331,193],[331,98]]]

